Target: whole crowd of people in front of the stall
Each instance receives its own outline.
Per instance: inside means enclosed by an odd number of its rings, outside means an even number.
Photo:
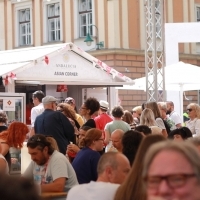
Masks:
[[[19,183],[27,181],[37,191],[32,199],[65,191],[67,200],[200,200],[198,104],[187,106],[183,124],[171,101],[128,111],[90,97],[78,112],[72,97],[58,103],[36,91],[32,100],[30,132],[22,122],[7,127],[7,115],[0,111],[0,176],[11,181],[9,148],[22,148],[28,134],[32,161]],[[0,178],[0,191],[3,187]],[[10,187],[4,188],[4,199]]]

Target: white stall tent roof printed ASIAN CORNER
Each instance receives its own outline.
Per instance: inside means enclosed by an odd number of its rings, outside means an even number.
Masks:
[[[72,43],[0,51],[0,76],[18,83],[124,85],[132,79]]]

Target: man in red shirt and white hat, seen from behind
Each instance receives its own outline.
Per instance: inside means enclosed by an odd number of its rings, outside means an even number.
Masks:
[[[109,103],[107,101],[100,100],[99,104],[100,104],[99,115],[94,118],[94,121],[96,123],[96,128],[102,131],[105,139],[105,132],[104,132],[105,125],[113,121],[113,119],[107,114],[107,111],[109,109]]]

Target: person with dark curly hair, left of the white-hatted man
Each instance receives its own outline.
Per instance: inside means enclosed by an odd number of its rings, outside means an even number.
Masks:
[[[86,99],[83,105],[80,107],[80,115],[83,116],[86,120],[83,126],[89,126],[91,128],[96,128],[96,124],[94,119],[92,119],[92,115],[98,111],[100,108],[100,104],[96,98],[90,97]]]

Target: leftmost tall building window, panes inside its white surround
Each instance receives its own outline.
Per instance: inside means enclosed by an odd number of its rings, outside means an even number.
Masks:
[[[31,44],[30,9],[19,10],[19,44]]]

